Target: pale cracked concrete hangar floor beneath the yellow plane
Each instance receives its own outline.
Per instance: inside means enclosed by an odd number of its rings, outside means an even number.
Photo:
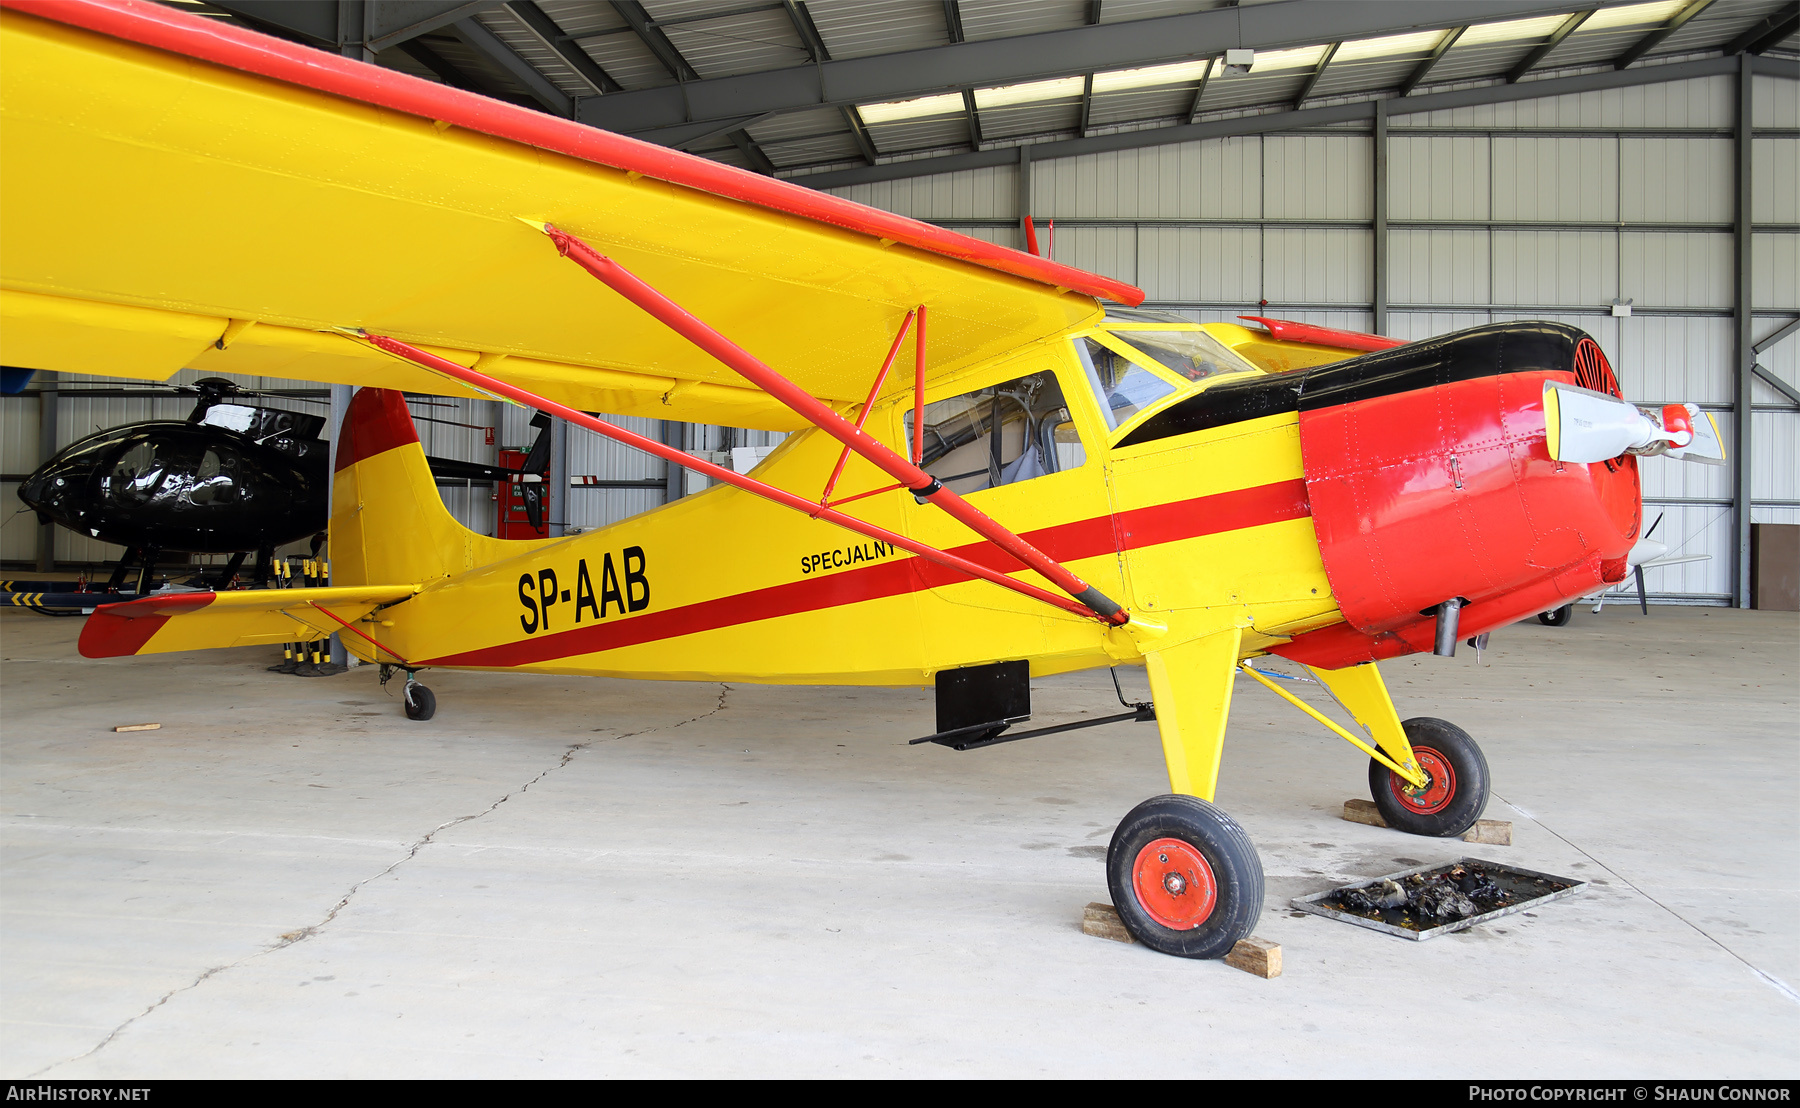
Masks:
[[[1080,934],[1148,725],[956,754],[905,746],[925,691],[457,673],[410,723],[371,669],[83,662],[79,622],[0,612],[5,1077],[1800,1072],[1789,613],[1390,664],[1512,847],[1339,820],[1366,759],[1240,678],[1276,980]],[[1103,671],[1037,709],[1118,710]],[[1465,853],[1591,887],[1427,943],[1287,908]]]

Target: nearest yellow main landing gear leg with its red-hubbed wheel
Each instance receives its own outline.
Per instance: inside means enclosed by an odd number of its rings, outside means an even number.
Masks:
[[[1172,795],[1120,822],[1107,887],[1125,928],[1161,953],[1224,957],[1262,916],[1256,847],[1211,804],[1240,640],[1233,628],[1145,658]]]

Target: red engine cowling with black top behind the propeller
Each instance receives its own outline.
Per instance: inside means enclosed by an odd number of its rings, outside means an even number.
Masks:
[[[1300,394],[1307,496],[1343,624],[1274,653],[1337,669],[1433,648],[1624,579],[1642,522],[1636,459],[1564,464],[1544,381],[1618,396],[1600,347],[1557,324],[1494,324],[1319,372]]]

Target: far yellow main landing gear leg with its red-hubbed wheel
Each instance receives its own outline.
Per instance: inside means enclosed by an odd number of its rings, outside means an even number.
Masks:
[[[1379,761],[1368,761],[1368,791],[1390,827],[1411,835],[1454,836],[1481,818],[1490,779],[1487,757],[1469,732],[1429,716],[1402,723],[1373,662],[1345,669],[1307,669],[1395,764],[1424,773],[1424,784],[1415,784]]]

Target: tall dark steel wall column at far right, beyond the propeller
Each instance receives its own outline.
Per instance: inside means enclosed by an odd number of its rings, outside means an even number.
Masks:
[[[1751,390],[1755,389],[1757,351],[1751,340],[1751,279],[1750,266],[1755,237],[1751,236],[1751,158],[1755,135],[1755,72],[1750,54],[1737,56],[1737,209],[1733,212],[1733,281],[1732,281],[1732,597],[1739,608],[1750,606],[1750,475],[1751,466]]]

